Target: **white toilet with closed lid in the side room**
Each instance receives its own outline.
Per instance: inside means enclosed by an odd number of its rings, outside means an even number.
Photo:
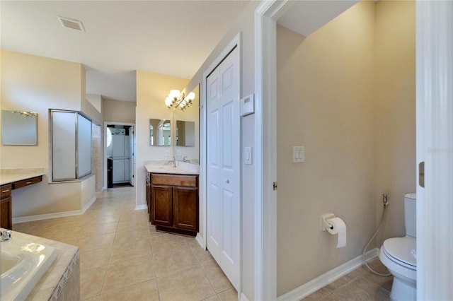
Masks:
[[[379,259],[394,276],[391,285],[391,300],[416,300],[417,297],[417,252],[415,194],[404,196],[405,237],[389,238],[382,244]]]

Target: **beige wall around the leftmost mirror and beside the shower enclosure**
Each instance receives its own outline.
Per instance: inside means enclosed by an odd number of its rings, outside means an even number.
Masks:
[[[13,191],[13,218],[81,210],[81,182],[49,184],[49,109],[81,110],[81,64],[1,50],[1,110],[38,112],[37,146],[0,146],[0,166],[44,167],[42,182]],[[88,179],[86,179],[88,180]]]

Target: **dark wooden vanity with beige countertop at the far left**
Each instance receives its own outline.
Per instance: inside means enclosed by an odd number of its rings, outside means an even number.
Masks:
[[[6,168],[0,174],[0,228],[13,228],[11,191],[42,181],[44,168]]]

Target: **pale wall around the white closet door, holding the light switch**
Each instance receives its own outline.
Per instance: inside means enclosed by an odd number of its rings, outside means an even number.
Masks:
[[[260,1],[251,1],[246,9],[241,13],[237,20],[231,20],[231,28],[228,33],[222,37],[219,44],[214,48],[206,61],[200,66],[197,73],[190,80],[185,90],[193,90],[197,84],[200,84],[200,103],[205,98],[206,87],[203,85],[203,73],[207,71],[210,65],[217,59],[224,48],[241,33],[241,98],[255,93],[255,9],[260,5]],[[256,100],[258,102],[259,100]],[[200,123],[204,122],[202,110],[200,111]],[[241,117],[241,152],[246,146],[254,146],[255,141],[255,115],[250,114]],[[203,139],[205,137],[200,137]],[[239,137],[238,137],[239,138]],[[253,148],[253,158],[256,158],[256,150]],[[253,159],[252,165],[243,164],[241,158],[241,288],[248,300],[254,300],[255,284],[255,164]],[[200,198],[205,191],[200,191]],[[205,213],[201,212],[200,216]],[[201,221],[201,220],[200,220]],[[200,234],[202,235],[202,225],[200,223]],[[205,237],[203,237],[205,238]]]

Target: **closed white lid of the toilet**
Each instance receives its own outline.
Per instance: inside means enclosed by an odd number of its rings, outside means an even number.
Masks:
[[[394,237],[384,241],[384,251],[397,261],[417,268],[416,240],[413,237]]]

